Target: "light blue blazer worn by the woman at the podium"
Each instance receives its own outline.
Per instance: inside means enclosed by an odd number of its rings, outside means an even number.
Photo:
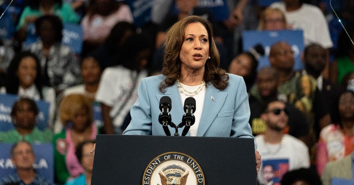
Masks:
[[[167,87],[166,92],[162,93],[159,91],[159,84],[164,79],[164,75],[157,75],[140,81],[138,99],[130,110],[132,120],[123,134],[166,135],[159,123],[159,102],[163,96],[169,96],[172,100],[172,122],[178,125],[182,121],[184,111],[177,83]],[[211,97],[215,101],[211,100]],[[229,74],[229,85],[224,90],[215,88],[212,83],[207,86],[197,136],[254,139],[249,119],[250,106],[245,81],[240,76]],[[173,135],[175,129],[169,128]],[[183,128],[178,129],[179,134]],[[186,136],[190,136],[189,132]]]

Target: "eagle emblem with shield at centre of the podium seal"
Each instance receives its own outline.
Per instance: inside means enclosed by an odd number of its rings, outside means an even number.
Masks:
[[[181,165],[172,164],[159,171],[161,185],[185,185],[189,171]]]

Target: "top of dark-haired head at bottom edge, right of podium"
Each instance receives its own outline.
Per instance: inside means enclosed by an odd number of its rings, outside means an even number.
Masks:
[[[321,179],[312,169],[300,168],[286,172],[281,185],[322,185]],[[329,184],[328,184],[329,185]]]

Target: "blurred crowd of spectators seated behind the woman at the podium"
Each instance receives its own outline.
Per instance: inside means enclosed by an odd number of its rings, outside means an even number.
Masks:
[[[325,0],[282,0],[268,7],[224,0],[230,13],[223,19],[203,1],[154,0],[151,20],[139,28],[124,0],[14,1],[21,13],[12,17],[13,38],[0,40],[0,93],[19,99],[10,112],[14,127],[0,132],[0,144],[13,144],[8,153],[16,174],[1,178],[0,185],[53,184],[33,168],[31,143],[53,144],[55,184],[90,185],[96,135],[124,132],[139,82],[162,73],[166,31],[191,15],[212,23],[219,68],[245,81],[249,124],[262,156],[258,183],[350,183],[354,1],[333,2],[350,38]],[[67,23],[82,27],[81,53],[62,44]],[[38,40],[26,45],[31,25]],[[286,41],[269,51],[259,44],[243,51],[240,33],[256,29],[303,30],[303,69],[295,70],[294,50]],[[258,69],[268,54],[270,65]],[[50,104],[46,129],[36,124],[37,100]],[[93,105],[101,110],[102,124],[94,121]]]

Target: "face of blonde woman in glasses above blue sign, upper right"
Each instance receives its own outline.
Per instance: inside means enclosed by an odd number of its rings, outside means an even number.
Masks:
[[[265,16],[264,30],[283,30],[286,29],[285,21],[280,12],[271,12]]]

